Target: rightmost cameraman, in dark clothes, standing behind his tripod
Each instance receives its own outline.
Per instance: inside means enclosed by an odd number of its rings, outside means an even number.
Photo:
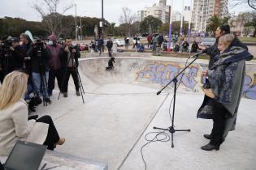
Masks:
[[[64,92],[64,97],[67,97],[67,87],[68,87],[68,80],[69,80],[70,74],[72,74],[72,78],[75,83],[76,96],[80,96],[79,82],[78,82],[79,80],[76,72],[76,69],[78,67],[79,57],[80,57],[79,49],[76,46],[72,46],[71,38],[66,38],[65,46],[63,49],[63,58],[65,60],[64,63],[66,65],[65,75],[63,79],[63,87],[62,87],[62,90]]]

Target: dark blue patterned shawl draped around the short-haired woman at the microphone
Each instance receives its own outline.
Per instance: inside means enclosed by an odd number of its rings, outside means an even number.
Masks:
[[[209,70],[210,88],[215,94],[215,99],[205,96],[197,117],[212,118],[212,101],[222,104],[228,110],[223,138],[234,128],[245,79],[245,60],[252,58],[245,49],[234,46],[216,56],[214,65]]]

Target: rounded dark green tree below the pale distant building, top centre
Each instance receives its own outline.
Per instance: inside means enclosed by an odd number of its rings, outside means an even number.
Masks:
[[[154,16],[149,15],[141,21],[141,31],[143,33],[158,32],[161,25],[162,21],[160,19],[157,19]]]

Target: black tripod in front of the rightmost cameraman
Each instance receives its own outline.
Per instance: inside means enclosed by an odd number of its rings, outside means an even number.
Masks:
[[[71,51],[71,54],[70,54],[70,57],[68,57],[67,66],[66,66],[64,77],[63,77],[63,83],[62,83],[61,90],[63,90],[64,82],[65,82],[65,79],[66,79],[66,76],[67,76],[68,63],[72,59],[72,65],[75,67],[76,76],[78,78],[78,86],[79,86],[80,95],[82,97],[83,103],[85,104],[85,100],[84,100],[84,96],[83,96],[83,93],[85,94],[85,90],[84,90],[82,81],[80,79],[80,74],[79,74],[79,71],[78,71],[77,66],[76,66],[76,61],[74,61],[75,60],[75,53],[72,53],[72,50],[70,50],[70,51]],[[60,96],[60,92],[61,91],[59,91],[59,96]],[[58,97],[58,100],[59,100],[59,97]]]

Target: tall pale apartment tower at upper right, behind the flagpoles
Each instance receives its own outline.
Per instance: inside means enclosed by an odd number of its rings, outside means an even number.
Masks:
[[[204,32],[213,15],[220,18],[228,16],[228,0],[193,0],[193,32]]]

